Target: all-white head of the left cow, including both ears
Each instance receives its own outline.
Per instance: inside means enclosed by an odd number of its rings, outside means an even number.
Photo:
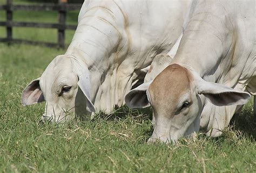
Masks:
[[[90,85],[90,73],[84,62],[77,62],[72,56],[59,55],[41,77],[26,86],[22,104],[26,106],[45,100],[42,120],[70,120],[75,114],[85,114],[86,109],[95,111],[90,99]]]

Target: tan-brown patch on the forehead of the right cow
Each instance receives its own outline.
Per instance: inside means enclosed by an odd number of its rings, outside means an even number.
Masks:
[[[180,98],[190,91],[190,74],[178,64],[166,67],[151,83],[151,104],[157,114],[173,115]]]

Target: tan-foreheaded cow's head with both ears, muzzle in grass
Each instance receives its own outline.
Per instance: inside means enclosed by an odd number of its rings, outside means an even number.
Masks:
[[[242,105],[251,97],[247,92],[206,82],[193,71],[171,64],[153,81],[127,93],[125,102],[131,108],[152,106],[156,124],[149,141],[176,142],[199,131],[203,109],[200,95],[217,106]]]

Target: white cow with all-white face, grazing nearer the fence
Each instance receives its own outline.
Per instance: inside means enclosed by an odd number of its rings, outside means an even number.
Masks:
[[[85,1],[68,50],[26,86],[22,104],[46,100],[43,120],[111,113],[114,106],[124,104],[140,69],[176,42],[189,3]]]

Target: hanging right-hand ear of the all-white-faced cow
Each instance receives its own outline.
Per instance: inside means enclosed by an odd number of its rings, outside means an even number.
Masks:
[[[89,112],[95,112],[95,107],[91,102],[91,81],[90,75],[85,73],[78,76],[78,86],[83,91],[84,96],[86,97],[86,110]]]

